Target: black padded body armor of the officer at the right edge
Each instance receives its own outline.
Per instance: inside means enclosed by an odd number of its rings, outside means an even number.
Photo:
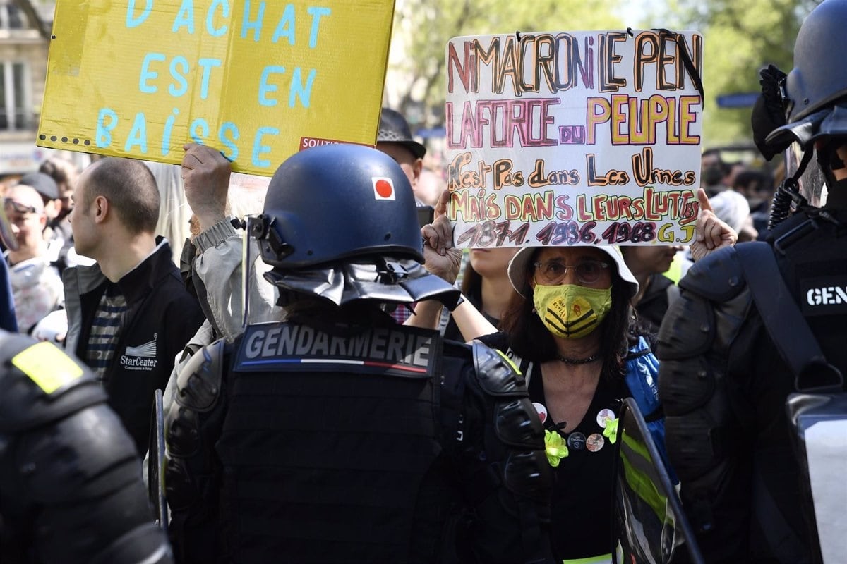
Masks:
[[[790,293],[773,298],[794,300],[842,373],[847,302],[834,288],[847,287],[843,216],[798,214],[769,238]],[[786,413],[794,375],[763,324],[735,249],[697,263],[680,287],[659,336],[659,392],[667,450],[706,560],[815,561]]]

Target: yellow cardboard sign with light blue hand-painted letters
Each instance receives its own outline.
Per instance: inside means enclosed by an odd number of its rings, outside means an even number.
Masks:
[[[394,0],[58,0],[37,145],[271,175],[374,145]]]

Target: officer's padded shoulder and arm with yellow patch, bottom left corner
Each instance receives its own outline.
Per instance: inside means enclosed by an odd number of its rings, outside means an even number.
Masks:
[[[55,345],[0,332],[0,561],[168,564],[106,392]]]

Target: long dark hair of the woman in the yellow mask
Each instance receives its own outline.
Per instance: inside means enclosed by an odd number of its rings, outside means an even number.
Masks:
[[[537,253],[537,251],[536,251]],[[527,261],[524,278],[532,274],[534,257]],[[524,297],[525,296],[525,297]],[[610,378],[623,377],[623,359],[627,355],[630,341],[630,305],[632,290],[627,282],[612,269],[612,309],[601,323],[600,354],[603,359],[602,375]],[[509,337],[509,347],[522,359],[534,363],[556,359],[556,339],[533,311],[532,288],[524,287],[522,294],[516,293],[501,320],[501,329]]]

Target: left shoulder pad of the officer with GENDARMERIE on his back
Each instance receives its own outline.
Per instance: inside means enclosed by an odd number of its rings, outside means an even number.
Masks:
[[[176,377],[176,402],[184,408],[205,412],[214,407],[224,375],[226,341],[218,339],[189,359]]]

